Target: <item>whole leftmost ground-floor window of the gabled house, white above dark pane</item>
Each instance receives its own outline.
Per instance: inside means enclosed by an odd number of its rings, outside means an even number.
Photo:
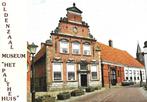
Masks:
[[[62,64],[61,63],[53,63],[53,78],[54,81],[62,80]]]

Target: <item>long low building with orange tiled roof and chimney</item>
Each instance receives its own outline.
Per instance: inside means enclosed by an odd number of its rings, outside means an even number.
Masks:
[[[141,77],[145,81],[145,74],[140,76],[140,71],[145,73],[144,66],[128,52],[114,48],[112,40],[109,40],[109,46],[100,42],[97,45],[101,49],[102,86],[120,84],[124,80],[140,82]]]

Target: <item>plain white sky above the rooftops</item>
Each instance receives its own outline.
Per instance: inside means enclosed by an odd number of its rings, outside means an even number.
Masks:
[[[108,45],[111,39],[114,48],[126,50],[134,57],[137,43],[143,51],[147,40],[147,0],[31,0],[26,40],[40,46],[49,39],[73,2],[83,11],[83,21],[89,24],[98,42]]]

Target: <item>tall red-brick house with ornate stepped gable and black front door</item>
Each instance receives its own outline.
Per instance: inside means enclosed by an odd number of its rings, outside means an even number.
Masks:
[[[35,58],[36,87],[50,90],[101,85],[100,50],[75,4],[66,9]]]

